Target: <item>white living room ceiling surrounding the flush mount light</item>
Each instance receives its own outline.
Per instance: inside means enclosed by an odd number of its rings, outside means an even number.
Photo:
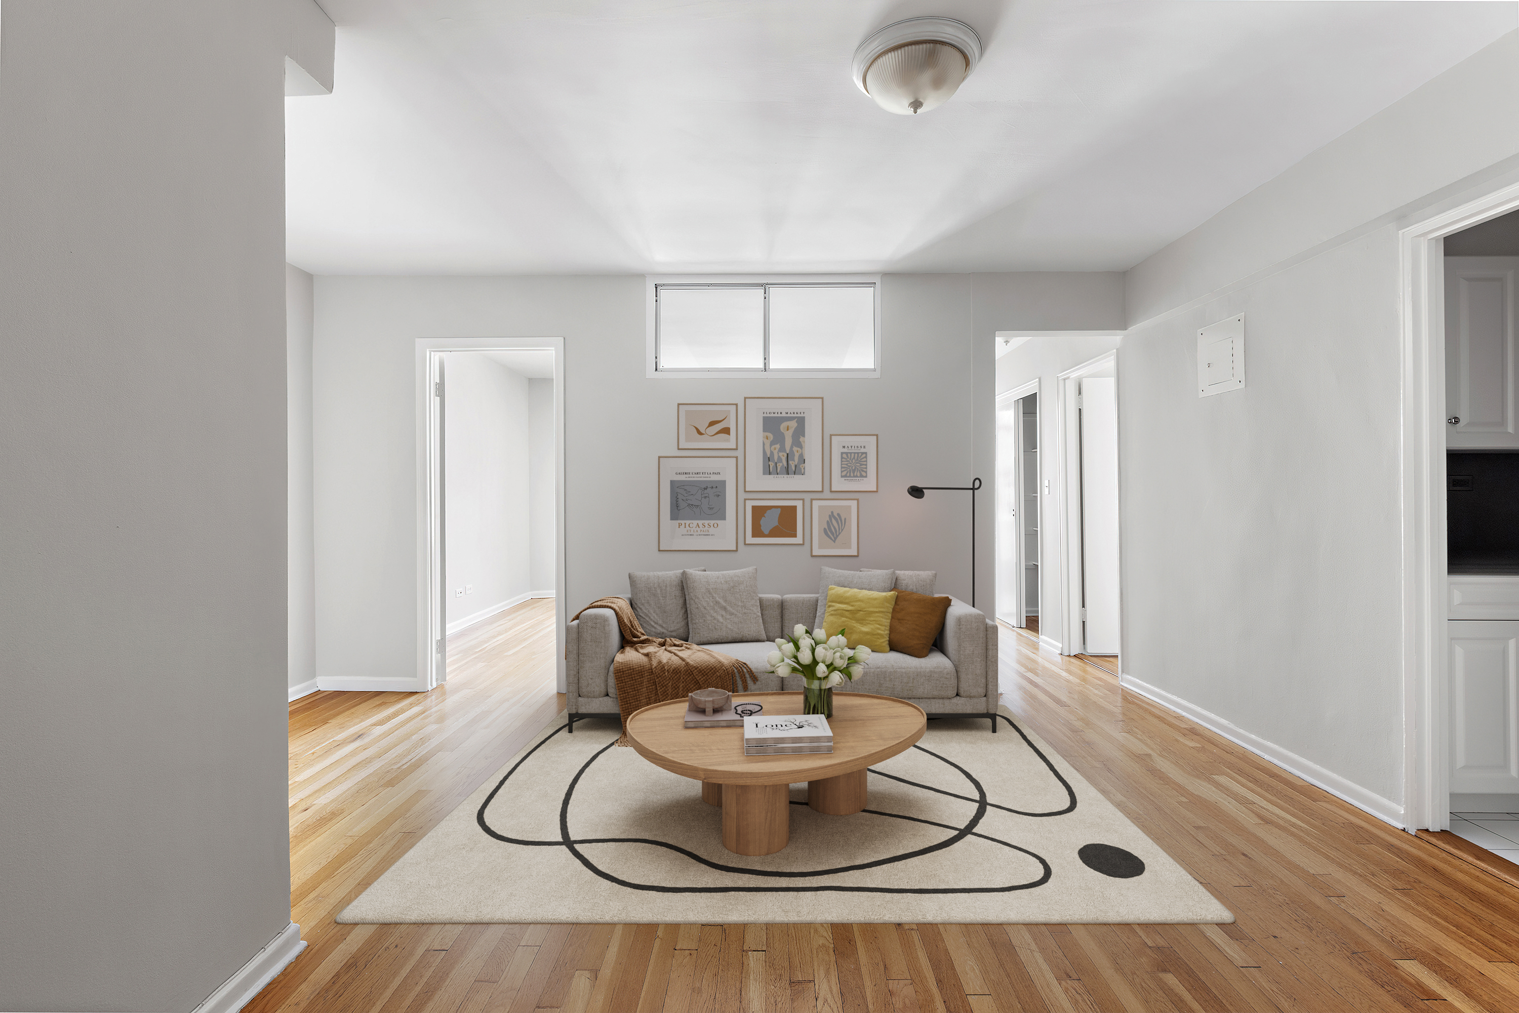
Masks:
[[[286,100],[314,273],[1123,270],[1519,24],[1513,3],[322,0]],[[873,29],[986,46],[943,108]]]

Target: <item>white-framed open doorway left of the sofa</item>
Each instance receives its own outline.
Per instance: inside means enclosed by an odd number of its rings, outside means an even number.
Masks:
[[[509,636],[516,612],[551,603],[562,691],[562,340],[424,339],[418,377],[419,688],[472,671],[475,641]]]

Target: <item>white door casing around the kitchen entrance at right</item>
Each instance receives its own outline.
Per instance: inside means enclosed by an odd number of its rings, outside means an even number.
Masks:
[[[1445,237],[1519,208],[1519,184],[1397,232],[1402,316],[1404,794],[1410,831],[1451,825],[1446,670]]]

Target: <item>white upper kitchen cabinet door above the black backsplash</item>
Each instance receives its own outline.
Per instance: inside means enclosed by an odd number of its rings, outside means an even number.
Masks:
[[[1448,257],[1445,261],[1448,447],[1519,447],[1516,273],[1519,257]]]

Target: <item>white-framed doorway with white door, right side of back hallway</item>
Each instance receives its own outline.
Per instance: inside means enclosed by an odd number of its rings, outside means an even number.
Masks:
[[[1116,656],[1121,617],[1118,547],[1118,380],[1107,352],[1060,374],[1065,477],[1063,650]]]

